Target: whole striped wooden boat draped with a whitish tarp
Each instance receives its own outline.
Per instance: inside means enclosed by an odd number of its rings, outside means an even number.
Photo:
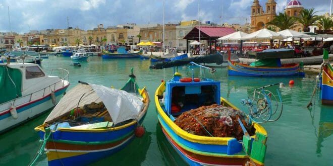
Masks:
[[[135,75],[129,76],[121,90],[81,82],[35,128],[45,141],[48,165],[86,165],[123,149],[134,138],[150,100]]]

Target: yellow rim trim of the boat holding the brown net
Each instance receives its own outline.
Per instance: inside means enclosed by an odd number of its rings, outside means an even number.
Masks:
[[[161,95],[163,92],[165,91],[165,81],[163,81],[160,86],[157,88],[157,90],[155,91],[155,104],[156,104],[156,110],[158,112],[158,114],[161,116],[161,118],[165,121],[165,123],[167,123],[170,128],[180,137],[191,141],[191,142],[196,142],[196,143],[201,143],[201,144],[214,144],[214,145],[228,145],[228,141],[230,139],[233,139],[231,137],[207,137],[207,136],[199,136],[199,135],[194,135],[194,134],[190,134],[186,131],[184,131],[183,129],[181,129],[179,126],[177,126],[169,117],[167,114],[164,113],[163,109],[161,108],[161,106],[159,105],[159,101],[158,101],[158,95]],[[228,104],[229,106],[233,107],[234,109],[237,109],[237,107],[235,107],[233,104],[231,104],[230,102],[228,102],[227,100],[223,99],[221,101],[226,101],[226,104]],[[267,134],[265,129],[263,127],[261,127],[260,125],[256,124],[254,125],[254,127],[259,127],[260,130],[258,130],[257,128],[257,132],[261,132],[263,134]]]

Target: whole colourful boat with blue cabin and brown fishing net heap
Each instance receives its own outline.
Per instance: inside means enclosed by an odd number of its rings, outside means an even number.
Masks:
[[[193,67],[192,77],[174,73],[154,98],[162,132],[177,153],[190,165],[263,165],[266,130],[220,96],[220,81],[195,78]]]

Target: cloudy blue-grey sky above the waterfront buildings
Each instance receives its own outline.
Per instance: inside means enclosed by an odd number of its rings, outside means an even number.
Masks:
[[[330,0],[299,0],[304,8],[315,8],[317,14],[329,12]],[[259,0],[265,6],[266,0]],[[282,12],[289,0],[275,0]],[[164,22],[198,20],[214,23],[250,21],[253,0],[165,0]],[[162,24],[163,0],[0,0],[0,32],[28,33],[30,30],[83,30],[98,24]],[[9,9],[9,10],[8,10]],[[9,12],[8,12],[9,11]],[[9,19],[10,18],[10,19]],[[10,20],[10,21],[9,21]]]

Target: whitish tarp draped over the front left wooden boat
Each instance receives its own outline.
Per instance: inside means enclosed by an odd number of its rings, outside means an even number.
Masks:
[[[66,93],[47,116],[44,123],[52,122],[52,120],[77,108],[78,103],[80,107],[85,104],[101,101],[104,103],[115,124],[124,120],[135,119],[144,107],[140,98],[125,91],[93,84],[90,86],[78,84]]]

